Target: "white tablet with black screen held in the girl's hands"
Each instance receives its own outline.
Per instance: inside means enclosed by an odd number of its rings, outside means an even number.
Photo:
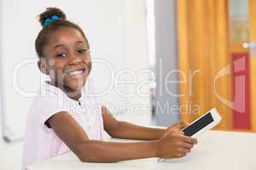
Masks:
[[[185,136],[196,138],[212,127],[218,125],[219,122],[221,122],[221,116],[219,116],[218,111],[213,108],[194,122],[191,122],[189,127],[183,128],[182,131]]]

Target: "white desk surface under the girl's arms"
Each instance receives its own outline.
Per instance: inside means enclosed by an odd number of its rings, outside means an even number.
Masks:
[[[85,163],[70,152],[27,167],[27,170],[256,170],[256,133],[209,131],[198,138],[198,144],[188,156],[164,162],[157,160]]]

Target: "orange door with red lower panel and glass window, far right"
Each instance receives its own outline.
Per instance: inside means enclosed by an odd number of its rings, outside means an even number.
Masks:
[[[256,0],[230,0],[233,128],[256,131]]]

